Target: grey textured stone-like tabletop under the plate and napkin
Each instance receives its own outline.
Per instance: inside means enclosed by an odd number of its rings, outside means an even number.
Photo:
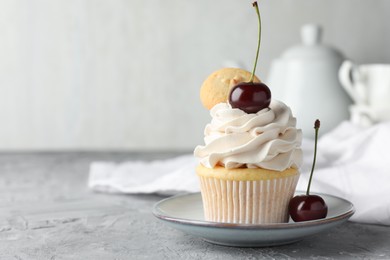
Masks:
[[[173,153],[0,153],[0,259],[390,259],[390,227],[347,224],[272,248],[212,245],[159,222],[157,195],[89,191],[96,160]]]

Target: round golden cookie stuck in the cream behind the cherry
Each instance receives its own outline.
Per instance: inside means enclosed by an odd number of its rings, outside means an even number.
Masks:
[[[200,100],[203,106],[211,109],[218,103],[227,102],[230,89],[241,82],[248,82],[252,73],[238,68],[223,68],[215,71],[203,82]],[[255,76],[254,82],[260,82]]]

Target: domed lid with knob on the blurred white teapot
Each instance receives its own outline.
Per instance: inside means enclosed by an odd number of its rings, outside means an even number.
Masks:
[[[282,60],[336,61],[343,60],[343,55],[335,48],[323,45],[322,28],[317,24],[306,24],[301,28],[302,44],[291,47],[282,54]]]

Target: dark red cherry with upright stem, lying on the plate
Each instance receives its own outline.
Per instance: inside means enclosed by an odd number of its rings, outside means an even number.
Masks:
[[[315,220],[325,218],[328,214],[328,206],[323,198],[318,195],[310,195],[310,185],[313,177],[313,171],[317,156],[317,139],[320,121],[317,119],[314,123],[315,143],[314,143],[314,160],[310,173],[309,184],[305,195],[298,195],[291,199],[289,203],[289,213],[295,222]]]

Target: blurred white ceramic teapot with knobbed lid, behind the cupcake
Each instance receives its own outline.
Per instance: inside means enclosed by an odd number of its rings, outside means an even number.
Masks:
[[[305,137],[314,137],[314,121],[325,133],[349,118],[350,97],[341,87],[338,71],[344,60],[334,48],[321,43],[321,27],[304,25],[302,44],[288,49],[271,64],[267,85],[273,98],[291,107]]]

